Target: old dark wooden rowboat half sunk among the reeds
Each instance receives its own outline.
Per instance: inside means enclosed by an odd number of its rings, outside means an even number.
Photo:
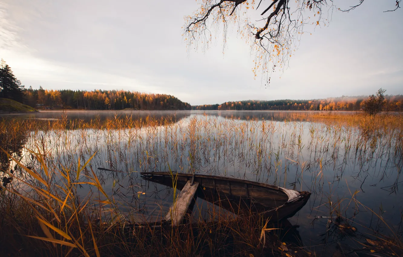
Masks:
[[[196,184],[195,197],[235,214],[242,211],[260,213],[272,222],[289,218],[308,201],[311,193],[276,187],[238,178],[169,172],[141,172],[142,178],[159,184],[188,190]],[[181,192],[182,193],[182,192]],[[188,205],[189,206],[189,205]]]

